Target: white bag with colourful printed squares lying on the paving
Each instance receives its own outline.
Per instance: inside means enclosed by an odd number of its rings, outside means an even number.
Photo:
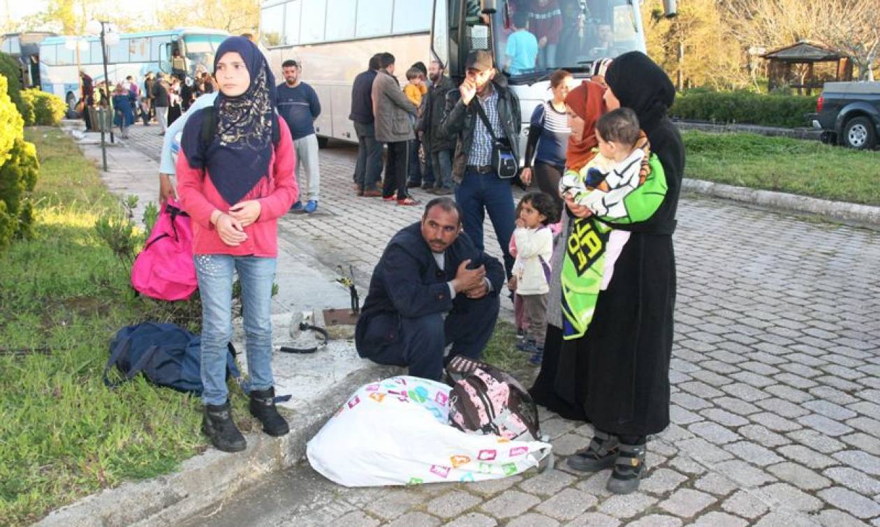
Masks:
[[[306,447],[312,468],[346,487],[498,479],[538,466],[550,444],[466,434],[449,422],[446,384],[367,384]]]

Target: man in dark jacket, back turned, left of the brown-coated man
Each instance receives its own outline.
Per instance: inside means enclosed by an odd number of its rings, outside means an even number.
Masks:
[[[377,183],[382,176],[382,143],[376,140],[373,127],[373,80],[379,69],[379,55],[370,58],[366,71],[357,74],[351,86],[351,113],[348,119],[355,123],[357,135],[357,165],[355,166],[355,185],[357,195],[378,197],[382,191]]]

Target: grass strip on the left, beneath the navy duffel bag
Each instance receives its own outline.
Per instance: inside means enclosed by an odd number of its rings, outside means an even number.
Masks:
[[[26,128],[40,155],[35,237],[0,254],[0,518],[33,523],[125,479],[172,472],[204,450],[201,404],[143,378],[111,392],[112,335],[156,319],[94,230],[121,211],[95,165],[57,128]],[[236,418],[253,421],[237,395]]]

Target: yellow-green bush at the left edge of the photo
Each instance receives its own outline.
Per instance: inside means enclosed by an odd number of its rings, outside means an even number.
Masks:
[[[13,238],[30,236],[33,204],[29,194],[40,171],[37,150],[25,141],[25,121],[7,95],[6,83],[0,75],[0,249]]]

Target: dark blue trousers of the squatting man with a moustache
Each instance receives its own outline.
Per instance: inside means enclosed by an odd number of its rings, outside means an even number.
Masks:
[[[450,358],[465,355],[479,359],[495,331],[500,301],[497,295],[488,295],[457,304],[445,320],[440,313],[400,317],[397,339],[370,355],[370,360],[408,366],[409,375],[438,381],[443,374],[444,349],[449,344]]]

